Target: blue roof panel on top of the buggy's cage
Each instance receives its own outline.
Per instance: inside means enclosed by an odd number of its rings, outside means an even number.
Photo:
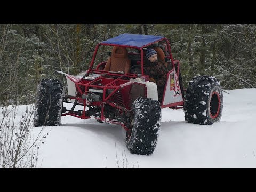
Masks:
[[[101,43],[117,44],[117,45],[127,45],[127,46],[136,46],[143,47],[149,43],[158,41],[164,37],[155,36],[155,35],[139,35],[139,34],[121,34],[119,36],[110,38]]]

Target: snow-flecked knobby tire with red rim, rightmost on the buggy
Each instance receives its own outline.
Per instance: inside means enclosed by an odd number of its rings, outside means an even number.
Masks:
[[[189,82],[184,102],[188,123],[211,125],[220,121],[222,109],[223,94],[215,77],[199,76]]]

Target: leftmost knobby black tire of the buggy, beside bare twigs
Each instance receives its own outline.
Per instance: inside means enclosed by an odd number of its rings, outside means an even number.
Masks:
[[[34,126],[60,125],[63,86],[59,80],[42,79],[37,87]]]

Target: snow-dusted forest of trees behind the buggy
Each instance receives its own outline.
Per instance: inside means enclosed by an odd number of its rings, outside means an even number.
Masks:
[[[86,70],[95,45],[122,33],[169,39],[185,88],[196,75],[215,76],[225,90],[256,87],[256,25],[1,24],[0,106],[35,103],[43,78],[66,85],[56,70]]]

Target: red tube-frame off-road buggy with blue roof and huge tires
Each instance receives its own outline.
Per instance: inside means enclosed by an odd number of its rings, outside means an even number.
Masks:
[[[157,51],[166,66],[167,81],[162,103],[157,85],[143,68],[148,48]],[[210,76],[194,77],[183,90],[179,61],[162,36],[121,34],[95,47],[88,70],[66,76],[67,93],[59,80],[42,79],[38,85],[34,126],[60,125],[61,116],[121,125],[126,146],[133,154],[153,153],[161,127],[161,108],[184,108],[189,123],[211,125],[222,114],[220,83]],[[185,94],[186,93],[186,94]],[[69,109],[63,102],[72,103]],[[83,110],[76,110],[76,106]]]

